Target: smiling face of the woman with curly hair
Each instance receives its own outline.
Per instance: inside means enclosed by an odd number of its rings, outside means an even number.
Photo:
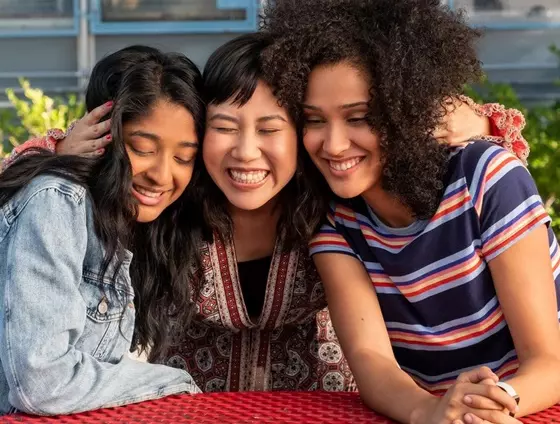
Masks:
[[[363,195],[381,180],[379,138],[366,115],[369,83],[346,63],[316,67],[304,100],[304,145],[331,190],[343,198]]]

